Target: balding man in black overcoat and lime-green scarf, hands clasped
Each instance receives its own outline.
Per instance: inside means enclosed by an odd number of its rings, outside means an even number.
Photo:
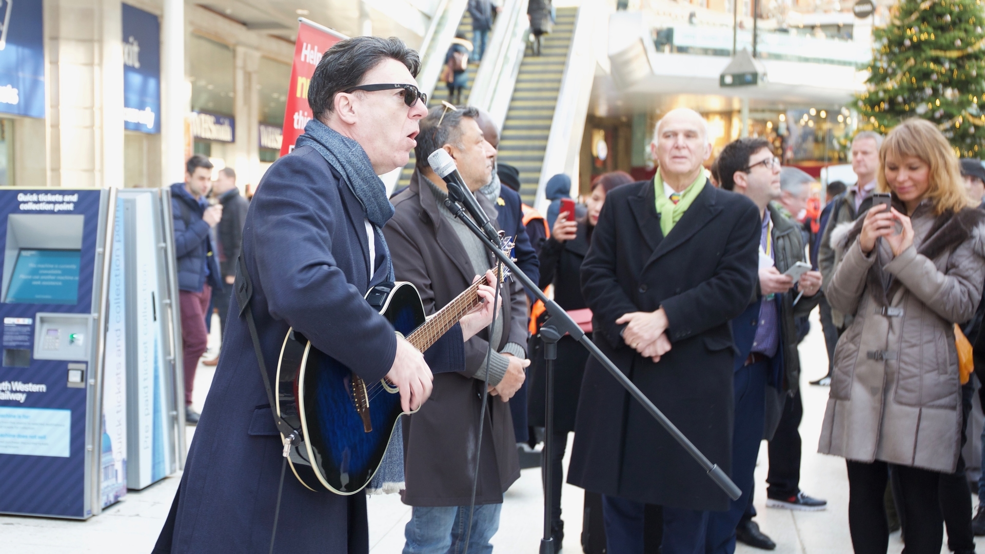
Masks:
[[[732,365],[728,321],[756,278],[759,211],[708,183],[706,124],[679,108],[657,123],[660,170],[606,198],[581,266],[595,341],[690,441],[729,472]],[[681,446],[589,359],[568,482],[602,493],[609,552],[643,552],[646,504],[663,506],[664,554],[704,552],[709,510],[729,499]]]

